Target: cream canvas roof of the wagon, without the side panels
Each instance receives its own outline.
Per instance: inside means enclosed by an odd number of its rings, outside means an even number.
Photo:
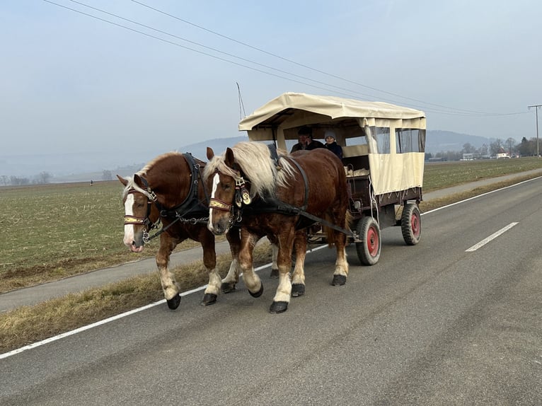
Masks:
[[[300,110],[301,112],[309,113],[309,115],[304,114],[304,120],[301,120],[300,116],[302,114],[299,112],[289,112],[289,109]],[[284,114],[281,115],[281,113]],[[311,119],[310,113],[313,113],[316,117]],[[258,126],[287,128],[290,127],[289,125],[284,126],[287,121],[291,121],[294,125],[309,124],[310,121],[322,122],[321,116],[327,117],[327,120],[343,118],[374,118],[384,120],[423,119],[425,123],[424,112],[389,103],[366,102],[333,96],[309,95],[306,93],[283,93],[241,120],[239,122],[239,130],[250,131]]]

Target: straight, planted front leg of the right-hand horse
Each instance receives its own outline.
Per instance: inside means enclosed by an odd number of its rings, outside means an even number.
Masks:
[[[287,226],[285,226],[287,228]],[[290,280],[290,269],[292,269],[292,245],[294,243],[295,231],[292,226],[289,231],[279,236],[279,254],[277,265],[279,267],[279,286],[275,292],[273,303],[269,311],[271,313],[282,313],[288,310],[290,296],[292,295],[292,282]]]

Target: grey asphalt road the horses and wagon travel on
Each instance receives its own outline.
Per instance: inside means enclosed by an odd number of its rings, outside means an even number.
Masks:
[[[541,202],[538,179],[432,211],[413,247],[386,228],[345,286],[313,252],[284,314],[264,269],[260,298],[192,294],[0,359],[0,404],[541,405]]]

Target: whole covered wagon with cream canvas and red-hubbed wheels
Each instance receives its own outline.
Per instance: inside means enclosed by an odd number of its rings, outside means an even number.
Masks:
[[[352,231],[359,260],[378,262],[381,228],[400,226],[407,245],[420,240],[425,158],[424,112],[388,103],[284,93],[239,123],[250,141],[289,150],[301,127],[314,139],[331,133],[342,146]],[[309,243],[325,234],[309,228]]]

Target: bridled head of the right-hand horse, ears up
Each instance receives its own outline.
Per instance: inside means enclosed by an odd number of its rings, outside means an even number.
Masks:
[[[227,233],[231,227],[233,204],[236,192],[239,193],[239,180],[242,178],[230,148],[226,149],[224,156],[217,157],[214,157],[211,148],[207,148],[207,159],[213,163],[212,166],[205,167],[207,184],[211,190],[207,228],[218,236]]]

